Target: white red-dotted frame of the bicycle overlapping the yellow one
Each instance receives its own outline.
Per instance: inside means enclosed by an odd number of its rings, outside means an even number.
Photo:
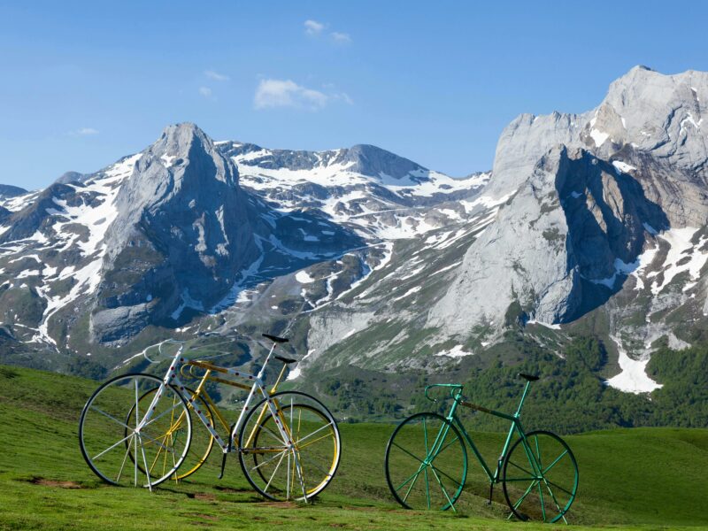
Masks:
[[[163,378],[162,384],[158,388],[158,392],[155,394],[155,396],[152,398],[152,401],[150,402],[150,405],[148,406],[148,410],[145,413],[145,415],[142,417],[142,420],[138,424],[137,431],[140,431],[142,427],[148,426],[151,422],[154,422],[158,418],[162,417],[163,415],[172,412],[176,407],[178,407],[179,404],[173,405],[172,408],[167,409],[165,412],[162,412],[158,415],[158,417],[155,417],[154,419],[152,418],[153,412],[156,409],[156,406],[158,404],[158,401],[160,397],[163,395],[165,392],[165,388],[167,386],[171,386],[173,389],[177,391],[177,393],[191,406],[192,410],[196,413],[196,416],[202,421],[204,424],[204,427],[209,431],[209,433],[214,437],[214,441],[216,441],[219,444],[219,447],[221,448],[221,451],[226,454],[230,453],[231,451],[234,451],[234,440],[236,435],[239,433],[239,430],[242,427],[242,423],[245,419],[246,413],[249,411],[250,404],[253,401],[254,397],[256,396],[256,393],[259,392],[261,396],[263,396],[266,399],[266,405],[268,412],[270,412],[271,416],[273,417],[273,420],[275,421],[276,427],[278,427],[278,431],[282,437],[282,440],[286,443],[286,446],[288,448],[288,451],[292,451],[293,453],[293,459],[295,461],[295,468],[296,468],[296,473],[298,477],[298,481],[300,482],[300,487],[303,490],[303,496],[305,502],[307,502],[307,496],[306,496],[306,491],[304,487],[304,480],[303,480],[303,473],[302,473],[302,467],[300,466],[300,458],[297,455],[297,452],[294,451],[295,445],[292,440],[292,436],[289,433],[289,427],[287,426],[286,422],[283,421],[283,417],[281,415],[280,407],[274,401],[271,399],[271,395],[266,389],[264,382],[263,382],[263,376],[266,373],[266,367],[268,366],[268,362],[273,356],[273,350],[275,350],[275,345],[276,343],[273,342],[273,346],[271,349],[268,351],[268,355],[266,356],[266,360],[263,363],[263,366],[261,367],[260,371],[258,371],[258,374],[250,374],[250,373],[243,373],[241,371],[236,371],[235,369],[228,368],[228,367],[221,367],[221,366],[215,366],[210,363],[206,363],[204,361],[189,361],[185,359],[182,356],[182,350],[184,349],[184,342],[178,342],[174,340],[166,340],[165,342],[171,342],[173,344],[178,344],[179,348],[175,352],[172,362],[170,363],[169,368],[167,369],[167,372],[165,373],[165,377]],[[160,343],[160,345],[164,344]],[[229,384],[235,385],[236,387],[241,387],[242,389],[249,389],[249,394],[246,397],[245,404],[243,406],[243,409],[236,420],[236,423],[234,427],[230,430],[229,436],[228,436],[228,441],[225,441],[222,437],[219,436],[217,431],[214,429],[212,426],[212,423],[209,421],[209,419],[206,418],[204,415],[204,412],[202,412],[198,406],[195,407],[196,404],[196,397],[195,396],[187,396],[185,394],[185,391],[187,390],[180,378],[177,376],[178,373],[181,373],[181,368],[182,366],[196,366],[203,368],[208,371],[213,371],[216,373],[223,373],[227,374],[229,376],[233,376],[236,378],[240,378],[244,381],[252,381],[251,386],[249,387],[248,385],[245,384],[238,384],[237,382],[234,381],[229,381]],[[284,370],[284,369],[283,369]],[[282,374],[282,371],[281,371]],[[279,377],[280,379],[280,377]],[[204,380],[200,383],[199,388],[202,388],[204,386]],[[266,414],[266,408],[264,408],[263,412],[261,412],[261,415]],[[224,419],[219,419],[219,420],[224,420]],[[253,434],[249,435],[249,439],[247,441],[247,445],[250,444],[251,438]],[[236,450],[241,450],[236,449]],[[148,487],[150,490],[152,489],[152,486],[150,485],[150,474],[147,474],[148,476]]]

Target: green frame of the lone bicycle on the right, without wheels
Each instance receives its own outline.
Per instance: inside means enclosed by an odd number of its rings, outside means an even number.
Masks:
[[[432,385],[426,386],[425,389],[425,395],[428,399],[430,397],[427,395],[427,391],[432,388],[440,387],[440,388],[450,388],[450,396],[453,399],[453,403],[450,406],[450,412],[448,412],[447,416],[445,419],[450,421],[450,423],[454,423],[458,429],[461,431],[462,435],[466,439],[467,445],[472,449],[474,453],[474,457],[477,458],[477,460],[480,462],[480,465],[482,469],[484,470],[484,473],[487,474],[487,478],[489,479],[489,488],[492,489],[496,483],[499,482],[500,480],[500,474],[502,473],[502,465],[504,463],[504,457],[506,456],[506,453],[509,451],[509,447],[512,444],[512,437],[514,435],[514,432],[518,432],[519,436],[523,440],[523,445],[524,445],[524,450],[529,454],[529,460],[534,464],[534,467],[536,470],[534,470],[534,473],[540,473],[540,468],[538,464],[536,463],[535,456],[533,455],[533,451],[529,450],[528,447],[528,442],[526,438],[526,433],[524,432],[524,428],[521,426],[521,407],[524,405],[524,401],[526,400],[526,396],[528,393],[528,388],[530,386],[531,382],[527,381],[526,387],[524,388],[524,392],[521,395],[521,400],[519,401],[519,407],[517,408],[516,412],[514,412],[512,415],[508,413],[503,413],[503,412],[496,412],[494,410],[490,410],[486,407],[482,407],[481,405],[477,404],[472,404],[471,402],[467,402],[464,397],[462,396],[462,386],[456,383],[435,383]],[[432,400],[432,399],[431,399]],[[435,400],[434,400],[435,401]],[[469,409],[472,409],[474,411],[478,412],[483,412],[487,413],[489,415],[494,415],[495,417],[499,417],[501,419],[506,419],[510,420],[512,422],[512,426],[509,428],[509,433],[506,435],[506,440],[504,441],[504,448],[502,449],[501,454],[499,455],[499,458],[496,460],[496,469],[494,473],[491,471],[491,467],[487,464],[487,461],[481,456],[480,450],[477,449],[477,446],[474,444],[472,440],[472,436],[467,433],[467,430],[465,429],[465,426],[462,424],[460,419],[458,418],[456,411],[458,409],[458,406],[463,406],[467,407]],[[441,451],[443,450],[442,448],[439,448],[439,446],[442,446],[443,441],[445,440],[445,437],[448,434],[448,431],[450,430],[450,425],[447,425],[444,427],[437,435],[435,438],[435,443],[433,443],[433,450],[431,450],[431,455],[433,455],[433,458]],[[454,510],[454,506],[453,506]]]

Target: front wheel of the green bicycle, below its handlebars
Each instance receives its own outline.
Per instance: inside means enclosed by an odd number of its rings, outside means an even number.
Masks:
[[[450,509],[465,486],[467,450],[458,428],[437,413],[396,427],[386,447],[386,481],[406,509]]]

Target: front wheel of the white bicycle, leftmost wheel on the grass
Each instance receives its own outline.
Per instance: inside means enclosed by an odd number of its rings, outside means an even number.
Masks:
[[[141,404],[146,393],[155,398]],[[106,381],[89,398],[79,420],[84,459],[113,485],[151,488],[170,478],[187,456],[191,435],[187,403],[177,389],[150,374]]]

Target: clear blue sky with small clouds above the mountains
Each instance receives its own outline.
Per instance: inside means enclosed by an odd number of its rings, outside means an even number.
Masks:
[[[373,143],[462,176],[521,112],[584,112],[633,65],[708,70],[699,2],[0,0],[0,182],[41,188],[194,121]]]

